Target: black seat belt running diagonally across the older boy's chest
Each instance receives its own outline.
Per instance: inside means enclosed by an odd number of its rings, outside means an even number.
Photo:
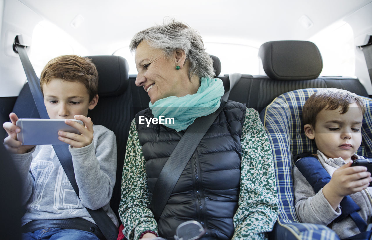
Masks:
[[[26,46],[19,43],[18,36],[14,39],[13,51],[19,54],[40,118],[49,118],[47,109],[44,105],[44,97],[40,90],[39,79],[36,76],[35,70],[33,70],[32,64],[27,56]],[[77,196],[79,196],[79,188],[76,183],[72,156],[68,150],[68,145],[61,144],[52,146],[55,154],[60,160],[61,166],[63,167],[68,180],[73,186]],[[102,208],[97,210],[86,209],[107,240],[116,240],[118,238],[118,228]]]

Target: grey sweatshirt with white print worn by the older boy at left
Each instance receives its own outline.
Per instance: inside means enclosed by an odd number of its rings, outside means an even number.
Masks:
[[[68,147],[72,155],[79,198],[68,181],[52,145],[37,145],[29,153],[12,154],[22,176],[26,213],[22,225],[31,220],[83,218],[94,223],[85,207],[103,208],[118,226],[110,208],[116,176],[115,134],[93,125],[93,141],[82,148]]]

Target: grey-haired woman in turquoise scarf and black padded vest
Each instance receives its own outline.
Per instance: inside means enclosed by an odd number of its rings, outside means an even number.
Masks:
[[[206,230],[203,240],[266,239],[277,218],[278,196],[257,111],[221,99],[224,87],[212,79],[202,38],[184,23],[171,20],[138,32],[129,48],[135,52],[136,85],[151,102],[132,121],[126,145],[119,208],[126,238],[173,239],[180,223],[196,220]],[[186,159],[156,221],[149,206],[164,164],[195,119],[217,109],[221,112],[196,154]],[[174,118],[174,123],[139,124],[141,115]]]

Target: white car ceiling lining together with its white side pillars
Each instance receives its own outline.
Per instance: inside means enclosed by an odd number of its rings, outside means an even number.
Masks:
[[[33,30],[42,20],[68,33],[85,47],[86,55],[110,55],[128,48],[138,31],[171,17],[198,30],[205,42],[256,48],[267,41],[308,40],[346,18],[355,43],[363,45],[372,33],[371,9],[372,0],[0,0],[0,96],[17,96],[25,80],[19,56],[12,49],[15,35],[32,45]],[[304,15],[313,22],[311,28],[301,25]],[[71,22],[77,16],[84,20],[73,28]],[[47,40],[58,37],[51,32]],[[369,78],[362,55],[356,58],[356,76]]]

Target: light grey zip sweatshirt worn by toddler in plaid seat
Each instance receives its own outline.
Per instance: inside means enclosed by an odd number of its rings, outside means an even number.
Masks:
[[[317,154],[318,160],[331,176],[335,170],[346,163],[341,157],[337,159],[327,159],[319,150]],[[354,154],[354,157],[356,157],[356,159],[363,158],[357,154]],[[293,182],[295,189],[295,208],[300,222],[328,225],[341,214],[342,209],[340,206],[337,207],[336,211],[331,207],[324,197],[323,189],[315,194],[314,189],[297,167],[293,169]],[[367,224],[371,223],[372,216],[372,202],[369,199],[371,194],[372,187],[368,187],[365,191],[350,195],[361,208],[357,213]],[[344,218],[339,223],[333,222],[332,230],[336,232],[340,239],[360,233],[350,216]]]

